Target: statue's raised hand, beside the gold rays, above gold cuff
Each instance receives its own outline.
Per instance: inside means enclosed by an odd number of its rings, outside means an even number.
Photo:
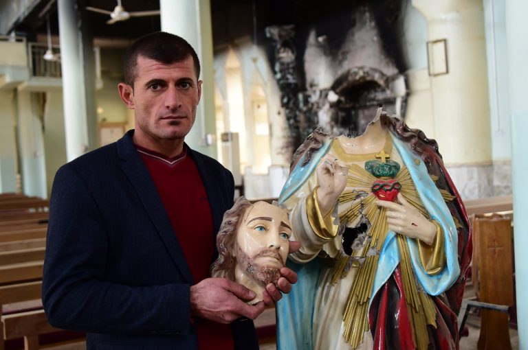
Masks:
[[[327,154],[317,166],[318,205],[323,216],[336,205],[338,196],[347,186],[349,169],[338,164],[338,160]]]

